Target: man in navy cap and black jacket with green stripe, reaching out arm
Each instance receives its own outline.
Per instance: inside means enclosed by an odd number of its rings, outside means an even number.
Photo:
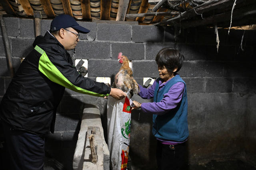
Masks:
[[[73,66],[67,50],[76,47],[79,33],[90,30],[74,18],[60,15],[50,32],[36,37],[0,104],[0,119],[14,170],[41,170],[44,166],[44,135],[54,132],[56,109],[65,88],[92,96],[126,94],[104,83],[84,78]]]

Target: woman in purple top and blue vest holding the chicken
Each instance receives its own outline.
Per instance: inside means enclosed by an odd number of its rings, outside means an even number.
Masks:
[[[140,86],[139,95],[154,102],[139,103],[135,107],[153,114],[152,133],[157,139],[158,170],[178,170],[185,165],[185,142],[188,139],[186,84],[177,73],[184,56],[177,50],[164,48],[156,56],[159,78],[146,89]]]

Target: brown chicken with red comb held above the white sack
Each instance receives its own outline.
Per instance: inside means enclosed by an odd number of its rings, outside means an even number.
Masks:
[[[122,55],[122,53],[118,53],[118,61],[122,65],[115,76],[113,87],[123,90],[131,98],[134,94],[138,94],[139,86],[132,76],[132,69],[129,67],[128,58]]]

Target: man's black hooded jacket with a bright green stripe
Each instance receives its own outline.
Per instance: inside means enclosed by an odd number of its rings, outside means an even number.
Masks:
[[[49,32],[36,37],[33,47],[0,104],[0,118],[14,129],[39,135],[53,133],[56,109],[65,87],[93,96],[109,95],[111,89],[106,84],[78,73],[69,53]]]

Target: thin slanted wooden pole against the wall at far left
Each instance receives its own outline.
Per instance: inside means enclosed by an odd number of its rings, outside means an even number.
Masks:
[[[7,32],[6,32],[6,27],[5,27],[4,20],[3,20],[3,15],[0,15],[0,22],[1,22],[1,27],[2,27],[2,35],[4,37],[4,45],[5,45],[5,49],[6,49],[6,55],[7,55],[8,64],[9,64],[9,68],[10,68],[10,72],[11,72],[11,77],[13,77],[14,70],[12,67],[11,49],[10,49],[10,43],[9,43]]]

